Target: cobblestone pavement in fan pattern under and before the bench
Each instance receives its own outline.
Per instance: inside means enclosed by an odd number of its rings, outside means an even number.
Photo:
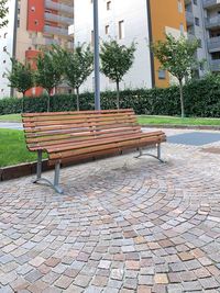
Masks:
[[[220,292],[220,155],[133,156],[1,183],[0,292]]]

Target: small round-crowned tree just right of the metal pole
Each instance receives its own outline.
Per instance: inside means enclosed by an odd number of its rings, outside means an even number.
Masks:
[[[117,41],[105,42],[101,45],[100,59],[101,71],[117,83],[117,108],[120,108],[119,84],[124,75],[130,70],[134,61],[135,44],[127,47],[119,45]]]

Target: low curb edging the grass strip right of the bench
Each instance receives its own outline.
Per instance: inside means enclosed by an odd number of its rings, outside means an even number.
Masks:
[[[220,126],[211,125],[170,125],[170,124],[144,124],[141,127],[147,128],[172,128],[172,129],[198,129],[198,131],[220,131]]]

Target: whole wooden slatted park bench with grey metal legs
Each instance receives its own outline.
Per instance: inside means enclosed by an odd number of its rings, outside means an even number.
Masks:
[[[161,143],[166,140],[163,132],[142,133],[131,109],[29,113],[22,114],[22,122],[26,146],[38,155],[34,183],[44,180],[58,193],[63,193],[61,164],[121,154],[124,149],[139,149],[141,156],[146,146],[157,146],[154,157],[161,160]],[[42,178],[43,151],[48,155],[48,164],[55,166],[54,183]]]

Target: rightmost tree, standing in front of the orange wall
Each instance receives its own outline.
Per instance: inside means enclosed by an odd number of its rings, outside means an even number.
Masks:
[[[172,35],[166,35],[165,41],[157,41],[151,47],[154,56],[161,63],[161,69],[170,72],[179,82],[182,117],[184,117],[184,78],[189,76],[191,70],[198,69],[199,61],[197,60],[196,52],[199,47],[199,42],[197,40],[187,40],[185,36],[175,38]]]

